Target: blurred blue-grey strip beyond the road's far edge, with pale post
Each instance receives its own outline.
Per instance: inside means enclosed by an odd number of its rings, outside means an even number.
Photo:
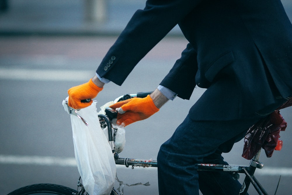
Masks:
[[[1,34],[118,35],[144,0],[0,0]],[[178,28],[176,33],[180,33]]]

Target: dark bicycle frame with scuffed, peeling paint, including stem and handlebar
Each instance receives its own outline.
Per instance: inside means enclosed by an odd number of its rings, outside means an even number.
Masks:
[[[140,93],[141,96],[147,96],[147,94],[150,94],[151,92],[146,93]],[[120,96],[115,101],[123,101],[125,99],[130,99],[133,97],[137,97],[137,94],[126,94],[124,96]],[[115,153],[115,135],[117,132],[117,129],[112,127],[112,118],[116,118],[117,113],[114,113],[115,111],[111,108],[106,109],[106,115],[98,115],[100,125],[102,128],[107,127],[108,130],[108,139],[109,144],[112,147],[114,159],[116,165],[125,165],[126,167],[132,166],[132,169],[134,167],[157,167],[157,161],[152,159],[136,159],[136,158],[119,158],[119,155]],[[114,133],[113,133],[114,132]],[[245,195],[247,194],[248,188],[250,184],[253,185],[253,187],[256,189],[258,194],[261,195],[267,195],[267,192],[262,187],[262,185],[258,182],[256,177],[254,177],[254,172],[256,171],[256,168],[263,168],[263,163],[260,163],[259,160],[260,151],[256,153],[256,155],[251,159],[249,166],[234,166],[234,165],[219,165],[219,164],[206,164],[201,163],[198,164],[198,171],[223,171],[223,172],[232,172],[234,173],[234,179],[239,179],[239,173],[245,174],[244,182],[241,186],[241,190],[239,192],[239,195]],[[82,184],[80,183],[80,178],[78,181],[78,186],[81,187],[81,190],[76,193],[76,195],[81,195],[85,193],[85,189],[83,188]],[[119,195],[119,193],[113,188],[112,193],[113,195]]]

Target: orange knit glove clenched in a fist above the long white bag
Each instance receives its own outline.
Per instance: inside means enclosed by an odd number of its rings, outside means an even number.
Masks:
[[[92,99],[95,98],[103,88],[96,86],[92,79],[87,83],[72,87],[68,90],[69,99],[68,106],[74,109],[81,109],[87,106],[90,106]],[[90,99],[89,102],[86,102],[86,99]]]

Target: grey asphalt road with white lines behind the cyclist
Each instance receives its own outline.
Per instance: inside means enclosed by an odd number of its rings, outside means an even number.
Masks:
[[[87,82],[116,37],[0,37],[0,194],[34,183],[76,188],[70,117],[62,107],[67,89]],[[185,48],[184,38],[165,38],[140,61],[120,87],[107,84],[96,100],[102,106],[116,97],[154,90]],[[131,60],[131,59],[129,59]],[[196,88],[189,101],[176,98],[151,118],[126,127],[126,146],[120,157],[157,158],[159,146],[182,122],[188,109],[204,92]],[[291,108],[281,111],[292,124]],[[291,194],[292,128],[281,132],[282,151],[272,158],[264,153],[265,168],[256,172],[268,193]],[[241,157],[243,141],[225,155],[230,164],[248,165]],[[124,183],[150,182],[150,186],[124,187],[124,194],[158,194],[156,168],[124,168],[117,176]],[[241,176],[241,179],[243,176]],[[116,187],[118,184],[116,184]],[[250,190],[250,194],[255,194]]]

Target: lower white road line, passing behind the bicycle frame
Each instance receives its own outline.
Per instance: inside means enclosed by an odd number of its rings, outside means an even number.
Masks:
[[[64,166],[77,167],[75,158],[62,158],[53,156],[18,156],[18,155],[0,155],[0,164],[12,165],[46,165],[46,166]],[[117,168],[126,168],[124,165],[117,165]],[[146,169],[148,170],[148,168]],[[153,170],[149,168],[149,170]],[[289,167],[264,167],[257,169],[255,175],[264,176],[288,176],[292,177],[292,168]]]

